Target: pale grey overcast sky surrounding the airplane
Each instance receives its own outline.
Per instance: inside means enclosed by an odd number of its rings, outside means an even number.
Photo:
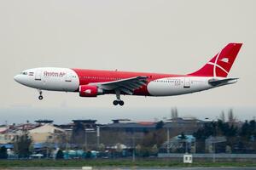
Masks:
[[[134,108],[253,108],[255,7],[253,0],[0,0],[0,113],[22,107],[43,114],[37,111],[65,107],[108,110],[120,117]],[[44,92],[44,100],[38,101],[37,90],[13,79],[40,66],[186,74],[229,42],[243,42],[229,75],[241,78],[236,84],[174,97],[125,96],[123,108],[112,105],[114,95],[86,99]]]

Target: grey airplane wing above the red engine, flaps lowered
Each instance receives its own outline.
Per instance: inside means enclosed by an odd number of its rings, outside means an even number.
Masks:
[[[148,77],[131,77],[113,82],[90,83],[90,85],[96,85],[98,88],[105,90],[114,90],[124,92],[125,94],[133,94],[134,90],[147,84],[147,79]]]

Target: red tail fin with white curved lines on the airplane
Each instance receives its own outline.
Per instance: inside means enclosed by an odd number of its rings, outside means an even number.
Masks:
[[[200,70],[189,75],[196,77],[227,77],[241,45],[242,43],[229,43]]]

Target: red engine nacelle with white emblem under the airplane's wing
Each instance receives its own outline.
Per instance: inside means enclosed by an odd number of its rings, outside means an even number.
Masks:
[[[103,90],[90,85],[79,86],[79,96],[80,97],[96,97],[97,95],[103,94]]]

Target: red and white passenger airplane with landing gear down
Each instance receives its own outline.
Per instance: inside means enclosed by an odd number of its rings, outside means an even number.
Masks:
[[[198,71],[186,74],[160,74],[131,71],[101,71],[40,67],[21,71],[16,82],[42,90],[77,92],[80,97],[115,94],[113,105],[124,105],[120,95],[173,96],[191,94],[237,82],[227,77],[242,43],[231,42]]]

